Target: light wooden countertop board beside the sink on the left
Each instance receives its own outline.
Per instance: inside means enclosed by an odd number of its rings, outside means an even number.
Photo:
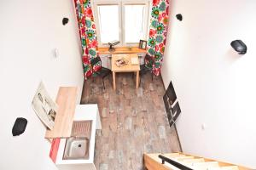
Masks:
[[[55,126],[52,130],[48,129],[46,131],[46,139],[70,137],[76,107],[77,91],[78,88],[76,87],[59,88],[56,98],[56,103],[59,108],[55,116]]]

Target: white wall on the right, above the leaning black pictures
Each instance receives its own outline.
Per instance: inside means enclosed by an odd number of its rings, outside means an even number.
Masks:
[[[184,152],[256,168],[255,8],[254,0],[171,1],[162,77],[181,105]],[[230,47],[236,39],[247,54]]]

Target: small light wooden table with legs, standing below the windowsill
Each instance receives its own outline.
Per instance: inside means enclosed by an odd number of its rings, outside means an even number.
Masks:
[[[117,59],[121,59],[125,57],[125,59],[129,60],[129,64],[128,65],[124,65],[124,66],[120,66],[118,67],[115,64],[115,61]],[[113,89],[116,89],[116,84],[115,84],[115,74],[116,72],[136,72],[136,88],[138,88],[138,84],[139,84],[139,71],[140,71],[140,65],[131,65],[131,58],[137,58],[137,54],[112,54],[112,73],[113,73]]]

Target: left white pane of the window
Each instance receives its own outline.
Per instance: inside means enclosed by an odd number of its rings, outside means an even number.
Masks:
[[[98,6],[100,35],[102,43],[119,40],[119,6]]]

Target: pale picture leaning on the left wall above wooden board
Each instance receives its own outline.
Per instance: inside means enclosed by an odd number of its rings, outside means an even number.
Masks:
[[[49,97],[43,82],[40,82],[38,90],[32,99],[32,108],[46,127],[49,129],[54,127],[58,106]]]

